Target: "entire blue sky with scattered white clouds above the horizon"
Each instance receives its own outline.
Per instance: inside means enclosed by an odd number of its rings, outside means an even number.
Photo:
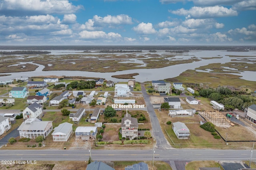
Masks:
[[[256,0],[0,0],[0,45],[256,45]]]

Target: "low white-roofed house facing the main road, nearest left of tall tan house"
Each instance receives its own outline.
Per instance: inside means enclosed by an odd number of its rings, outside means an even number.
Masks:
[[[91,134],[92,131],[92,134]],[[76,138],[81,138],[83,141],[88,141],[90,137],[96,138],[97,127],[94,126],[79,126],[76,128]]]

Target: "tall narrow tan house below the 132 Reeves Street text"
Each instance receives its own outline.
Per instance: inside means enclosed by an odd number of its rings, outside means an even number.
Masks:
[[[138,137],[138,119],[131,117],[129,113],[124,115],[121,121],[122,138],[129,138],[130,140]]]

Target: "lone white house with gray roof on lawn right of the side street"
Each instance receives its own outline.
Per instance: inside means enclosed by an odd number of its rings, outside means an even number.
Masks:
[[[172,123],[172,130],[178,139],[189,139],[190,130],[185,123],[179,121]]]

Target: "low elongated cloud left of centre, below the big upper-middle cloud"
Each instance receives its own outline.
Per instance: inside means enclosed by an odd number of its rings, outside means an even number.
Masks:
[[[83,39],[113,39],[120,38],[121,35],[118,33],[105,33],[104,31],[81,31],[79,33],[80,37]]]

